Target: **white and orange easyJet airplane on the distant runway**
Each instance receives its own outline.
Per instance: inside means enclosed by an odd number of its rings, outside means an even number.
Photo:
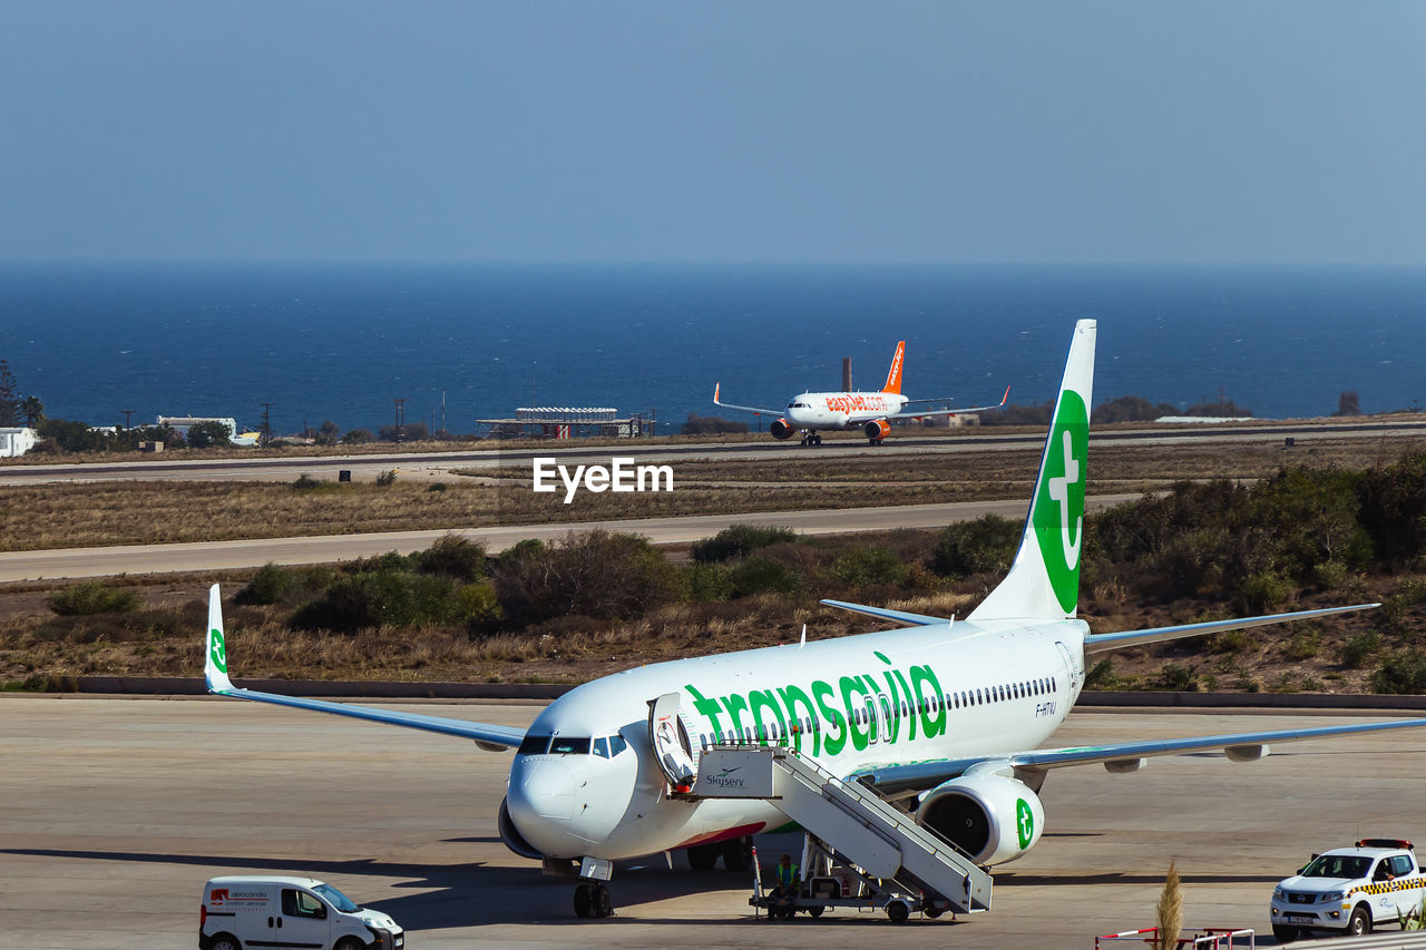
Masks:
[[[1005,395],[995,405],[973,405],[964,409],[925,409],[914,411],[907,407],[921,402],[947,402],[947,399],[907,399],[901,395],[901,361],[906,357],[906,341],[896,345],[896,355],[891,357],[891,371],[887,372],[887,382],[880,392],[803,392],[793,397],[786,409],[759,409],[753,405],[733,405],[719,401],[722,384],[713,384],[713,405],[737,412],[752,412],[753,415],[770,415],[773,424],[767,427],[774,439],[790,439],[794,432],[801,432],[801,445],[821,445],[817,429],[861,429],[873,445],[881,445],[891,434],[891,419],[924,419],[933,415],[968,415],[998,409],[1010,398],[1010,387]]]

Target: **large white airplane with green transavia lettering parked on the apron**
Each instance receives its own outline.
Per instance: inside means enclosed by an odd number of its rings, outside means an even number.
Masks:
[[[1074,708],[1085,658],[1182,636],[1320,618],[1376,605],[1089,633],[1075,618],[1084,526],[1094,321],[1075,325],[1025,531],[1010,573],[964,619],[827,601],[900,629],[655,663],[583,683],[529,729],[237,689],[228,679],[218,586],[210,595],[208,689],[515,749],[499,832],[516,854],[583,882],[580,916],[609,907],[612,862],[689,849],[746,866],[749,836],[786,823],[761,799],[686,800],[702,749],[793,746],[955,843],[975,864],[1040,840],[1037,792],[1050,770],[1134,772],[1149,756],[1222,750],[1243,762],[1269,743],[1426,726],[1426,719],[1041,749]],[[670,722],[676,729],[656,729]],[[836,842],[831,842],[836,846]]]

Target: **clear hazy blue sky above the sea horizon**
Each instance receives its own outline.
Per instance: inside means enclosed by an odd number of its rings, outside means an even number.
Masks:
[[[0,0],[0,260],[1426,262],[1422,3]]]

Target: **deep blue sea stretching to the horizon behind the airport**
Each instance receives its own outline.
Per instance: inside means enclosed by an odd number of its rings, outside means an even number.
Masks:
[[[965,267],[3,265],[0,358],[53,417],[231,415],[473,429],[518,405],[655,409],[880,387],[1054,394],[1099,321],[1095,402],[1219,394],[1259,417],[1426,404],[1426,271]]]

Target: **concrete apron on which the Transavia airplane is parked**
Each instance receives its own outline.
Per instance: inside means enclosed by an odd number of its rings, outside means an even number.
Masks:
[[[404,706],[415,709],[416,706]],[[528,725],[538,705],[421,705]],[[1385,719],[1386,716],[1380,716]],[[1075,713],[1055,745],[1360,722],[1302,713]],[[193,950],[202,882],[325,879],[391,913],[418,950],[580,946],[1065,947],[1154,923],[1169,859],[1191,924],[1253,927],[1271,946],[1273,884],[1363,834],[1426,837],[1426,735],[1333,739],[1262,762],[1151,760],[1135,775],[1061,769],[1045,836],[995,873],[965,921],[836,911],[757,923],[747,874],[653,859],[623,866],[617,916],[579,921],[569,882],[499,842],[509,753],[319,713],[224,699],[0,696],[0,927],[9,947]],[[760,839],[764,860],[796,839]],[[1262,934],[1268,934],[1263,939]]]

